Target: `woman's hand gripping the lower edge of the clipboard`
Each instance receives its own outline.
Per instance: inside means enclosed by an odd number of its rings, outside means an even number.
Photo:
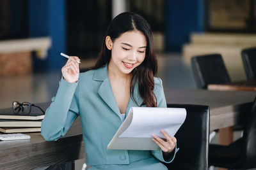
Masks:
[[[170,153],[175,148],[177,139],[175,137],[170,137],[165,131],[161,130],[161,133],[166,138],[166,141],[164,139],[159,138],[156,136],[156,134],[152,134],[153,138],[152,141],[154,141],[160,148],[163,150],[163,152]]]

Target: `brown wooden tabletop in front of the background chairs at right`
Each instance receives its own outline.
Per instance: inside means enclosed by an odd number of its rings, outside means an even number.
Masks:
[[[256,80],[243,80],[227,84],[209,84],[208,90],[241,90],[241,91],[256,91]]]

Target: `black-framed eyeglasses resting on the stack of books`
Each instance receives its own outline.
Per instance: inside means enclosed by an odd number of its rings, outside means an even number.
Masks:
[[[12,103],[12,111],[16,115],[29,115],[31,112],[31,106],[35,106],[36,108],[39,108],[44,114],[44,110],[42,110],[39,106],[36,106],[35,104],[24,102],[24,103],[19,103],[17,101],[13,101]],[[21,110],[21,113],[20,113]]]

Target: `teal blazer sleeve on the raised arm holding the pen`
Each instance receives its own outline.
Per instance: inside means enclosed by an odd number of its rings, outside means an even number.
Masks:
[[[42,121],[41,134],[46,141],[56,141],[64,136],[79,115],[77,85],[78,82],[68,83],[61,78],[56,97],[52,97]]]

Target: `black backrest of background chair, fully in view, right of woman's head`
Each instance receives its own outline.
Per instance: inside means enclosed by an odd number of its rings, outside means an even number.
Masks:
[[[230,77],[220,54],[192,57],[191,67],[196,85],[200,89],[207,89],[209,84],[230,82]]]

